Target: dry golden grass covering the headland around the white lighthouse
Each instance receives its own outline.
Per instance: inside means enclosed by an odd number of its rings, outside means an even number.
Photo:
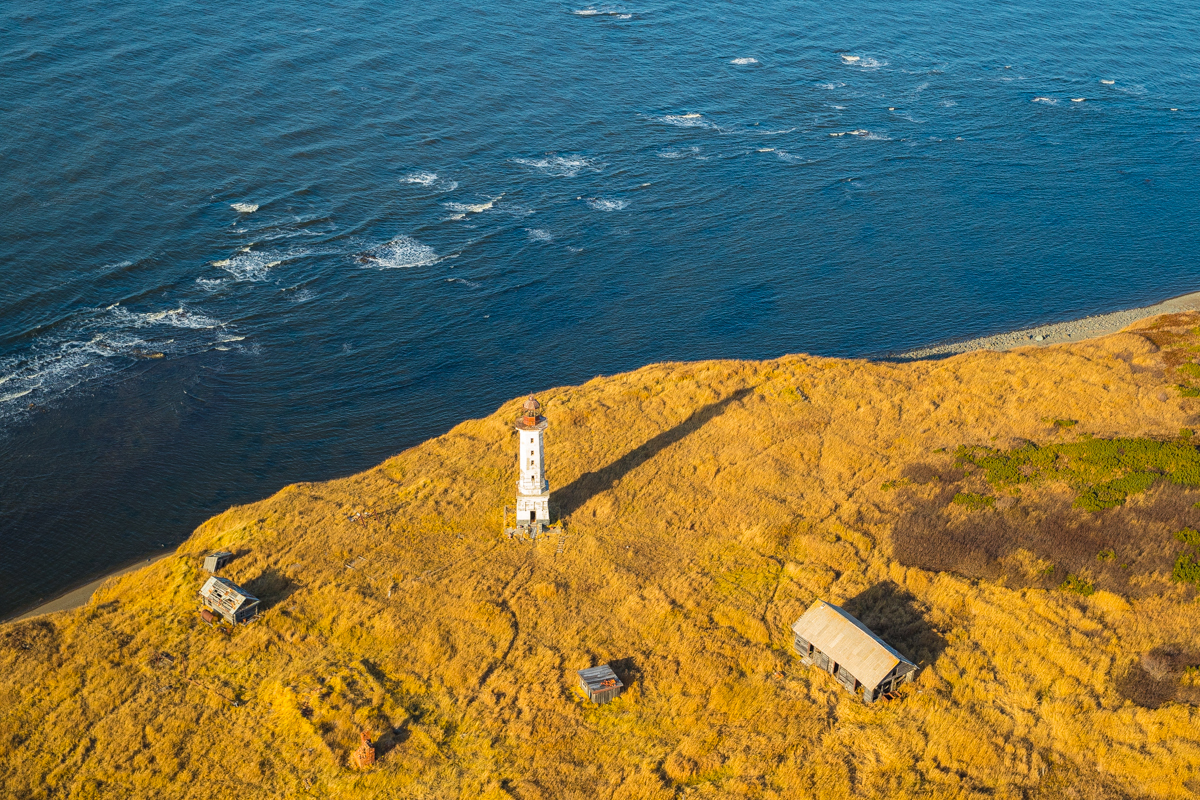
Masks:
[[[230,509],[85,608],[0,626],[0,788],[1195,796],[1200,710],[1117,688],[1139,664],[1174,668],[1145,654],[1200,650],[1193,590],[1153,571],[1081,596],[905,566],[906,500],[884,487],[923,486],[962,444],[1177,437],[1200,422],[1177,387],[1198,323],[936,362],[665,363],[547,392],[566,525],[538,545],[499,531],[520,401]],[[264,599],[259,621],[200,622],[215,548],[240,554],[227,575]],[[1014,575],[1046,560],[1004,558]],[[865,706],[791,655],[817,597],[924,662],[899,700]],[[630,688],[596,708],[575,670],[608,661]],[[360,728],[380,744],[367,772],[348,765]]]

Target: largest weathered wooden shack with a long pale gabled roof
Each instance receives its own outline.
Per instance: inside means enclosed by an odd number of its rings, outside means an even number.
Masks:
[[[917,664],[846,610],[823,600],[796,620],[792,632],[803,663],[828,672],[864,703],[874,703],[917,674]]]

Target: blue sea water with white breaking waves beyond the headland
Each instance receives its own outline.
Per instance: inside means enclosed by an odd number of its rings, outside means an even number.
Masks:
[[[0,25],[0,613],[522,392],[1200,289],[1187,4]]]

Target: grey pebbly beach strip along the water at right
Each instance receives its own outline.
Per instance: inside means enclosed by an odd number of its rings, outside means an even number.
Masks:
[[[1063,342],[1082,342],[1097,336],[1116,333],[1133,325],[1139,319],[1158,317],[1159,314],[1175,314],[1181,311],[1200,311],[1200,291],[1178,295],[1153,306],[1114,311],[1108,314],[1094,314],[1092,317],[1070,319],[1064,323],[1051,323],[1019,331],[979,336],[961,342],[934,344],[931,347],[922,347],[894,354],[890,357],[908,361],[950,356],[973,350],[1012,350],[1019,347],[1048,347],[1050,344],[1062,344]]]

